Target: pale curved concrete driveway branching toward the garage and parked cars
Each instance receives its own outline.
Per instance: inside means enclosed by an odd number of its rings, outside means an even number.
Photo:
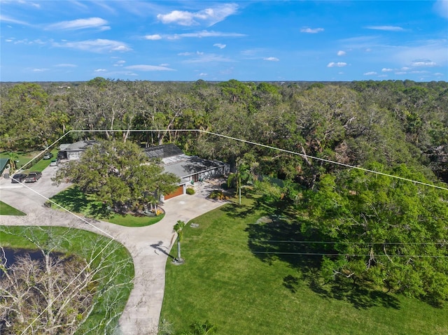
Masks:
[[[172,247],[173,226],[177,220],[188,222],[203,213],[225,204],[197,196],[182,195],[162,205],[165,218],[148,227],[122,227],[108,222],[86,224],[71,213],[45,208],[49,197],[68,185],[52,185],[51,177],[57,168],[48,167],[37,183],[11,184],[10,179],[0,181],[1,201],[27,213],[25,217],[0,215],[3,225],[49,225],[86,229],[109,235],[123,243],[134,260],[134,289],[120,318],[119,334],[157,334],[160,311],[165,290],[165,264]],[[165,253],[166,252],[166,253]]]

